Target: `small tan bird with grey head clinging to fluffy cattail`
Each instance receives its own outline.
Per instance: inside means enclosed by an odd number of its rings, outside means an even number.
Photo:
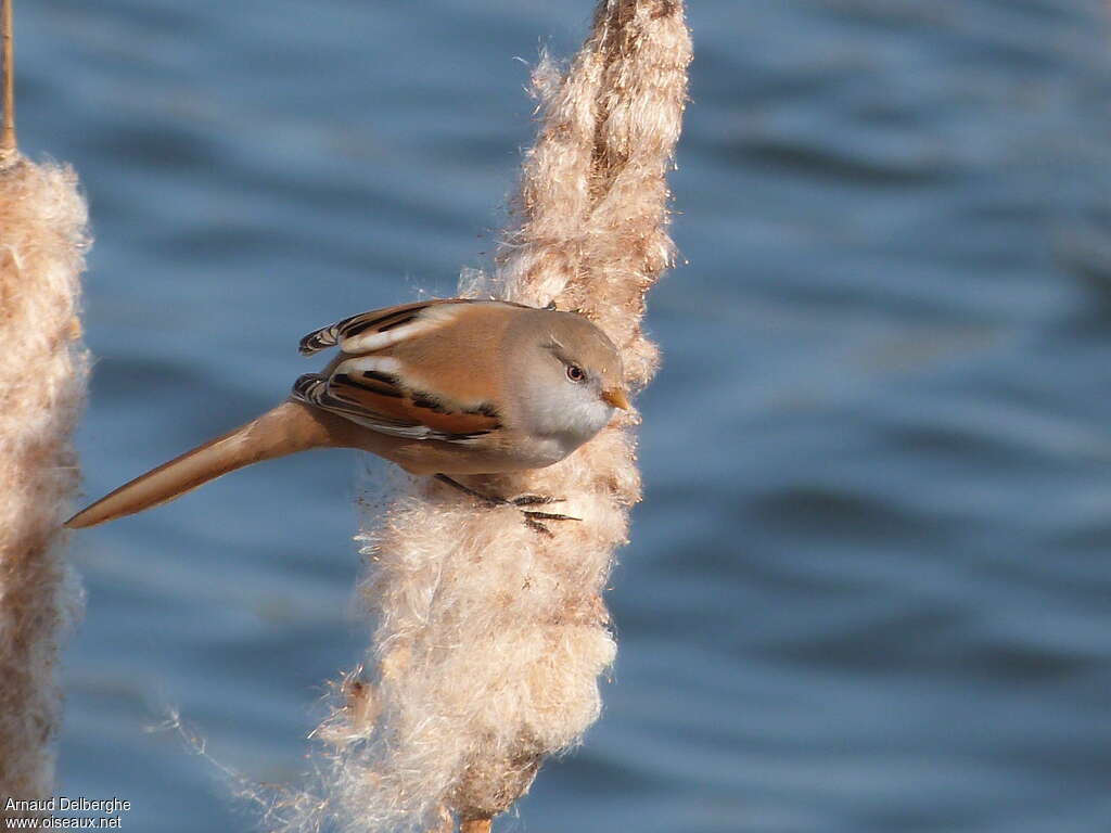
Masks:
[[[94,526],[171,501],[251,463],[317,446],[352,448],[413,474],[493,474],[559,462],[629,408],[621,357],[572,312],[448,299],[364,312],[301,339],[312,355],[338,345],[323,373],[289,400],[120,486],[67,526]],[[527,521],[571,520],[526,511]],[[540,529],[543,529],[542,526]]]

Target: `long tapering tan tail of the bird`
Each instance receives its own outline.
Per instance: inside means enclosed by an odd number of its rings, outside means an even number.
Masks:
[[[299,402],[283,402],[246,425],[198,445],[78,512],[71,529],[96,526],[180,498],[222,474],[317,445],[339,445],[334,419]]]

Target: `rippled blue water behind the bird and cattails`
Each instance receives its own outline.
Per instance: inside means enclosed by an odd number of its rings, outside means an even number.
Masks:
[[[449,294],[585,0],[40,0],[21,141],[97,247],[87,492]],[[1111,830],[1111,32],[1099,0],[695,0],[647,499],[605,712],[526,831]],[[76,536],[61,790],[241,830],[357,661],[348,452]]]

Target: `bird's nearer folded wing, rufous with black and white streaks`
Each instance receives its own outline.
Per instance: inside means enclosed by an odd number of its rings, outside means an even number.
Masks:
[[[293,399],[411,440],[470,442],[501,428],[492,404],[463,405],[413,390],[398,374],[380,369],[389,361],[357,357],[340,362],[331,375],[307,373],[293,385]]]

